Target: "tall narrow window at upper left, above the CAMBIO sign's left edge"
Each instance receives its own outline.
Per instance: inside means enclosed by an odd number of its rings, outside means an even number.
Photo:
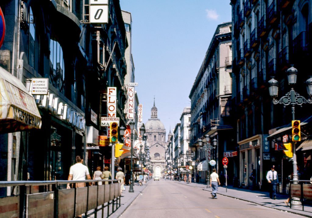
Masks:
[[[36,41],[36,26],[32,7],[29,9],[29,38],[28,38],[28,64],[32,67],[35,65],[35,41]]]

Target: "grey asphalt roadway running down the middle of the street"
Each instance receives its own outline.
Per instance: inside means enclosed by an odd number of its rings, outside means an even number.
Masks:
[[[169,180],[150,181],[120,217],[303,217]]]

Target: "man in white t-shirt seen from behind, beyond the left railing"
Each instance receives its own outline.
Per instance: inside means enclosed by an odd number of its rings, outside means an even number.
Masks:
[[[83,159],[78,155],[76,156],[76,164],[72,165],[69,169],[69,175],[67,180],[85,180],[91,179],[89,169],[82,164]],[[85,183],[77,183],[76,187],[84,187]],[[67,188],[71,188],[70,183],[67,184]]]

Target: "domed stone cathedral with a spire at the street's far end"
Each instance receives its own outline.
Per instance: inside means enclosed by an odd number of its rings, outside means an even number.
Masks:
[[[166,129],[157,117],[157,108],[151,109],[151,118],[145,123],[145,134],[147,136],[147,146],[151,155],[150,164],[153,169],[153,176],[162,177],[162,172],[166,167]]]

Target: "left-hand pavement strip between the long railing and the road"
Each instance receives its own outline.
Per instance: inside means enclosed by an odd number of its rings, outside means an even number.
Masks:
[[[136,183],[133,185],[133,190],[134,192],[129,192],[129,185],[125,185],[124,187],[126,188],[125,191],[122,192],[121,194],[121,200],[120,200],[120,207],[115,211],[113,214],[111,214],[109,217],[111,218],[117,218],[119,217],[127,208],[128,206],[134,201],[135,198],[141,194],[141,192],[146,188],[146,186],[149,184],[149,181],[147,183],[143,183],[142,186],[137,186]],[[119,204],[119,201],[118,201]],[[116,206],[115,206],[116,208]],[[112,212],[112,205],[110,205],[110,213]],[[89,216],[91,218],[94,217],[94,215]],[[97,217],[102,217],[102,211],[97,212]],[[107,217],[107,208],[105,207],[104,209],[104,217]]]

